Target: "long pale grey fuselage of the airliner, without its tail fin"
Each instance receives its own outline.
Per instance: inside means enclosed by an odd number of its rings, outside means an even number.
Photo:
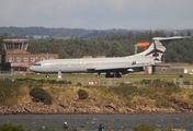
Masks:
[[[44,60],[31,67],[31,70],[38,73],[83,73],[83,72],[122,72],[127,73],[128,69],[154,64],[151,59],[120,58],[91,58],[91,59],[53,59]],[[126,68],[128,67],[128,68]],[[133,67],[133,68],[132,68]],[[140,68],[141,69],[141,68]]]

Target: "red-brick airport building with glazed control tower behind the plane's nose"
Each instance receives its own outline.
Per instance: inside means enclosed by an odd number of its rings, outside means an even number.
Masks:
[[[30,67],[45,59],[58,59],[58,53],[30,53],[29,39],[2,39],[0,71],[11,73],[32,73]]]

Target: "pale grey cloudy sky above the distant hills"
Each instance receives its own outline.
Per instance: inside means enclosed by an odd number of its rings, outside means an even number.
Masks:
[[[0,26],[192,29],[193,0],[1,0]]]

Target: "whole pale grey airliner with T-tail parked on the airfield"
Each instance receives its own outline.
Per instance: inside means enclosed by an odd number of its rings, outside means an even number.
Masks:
[[[152,44],[143,52],[127,57],[112,58],[77,58],[77,59],[49,59],[38,61],[30,70],[37,73],[105,73],[105,78],[121,78],[128,72],[144,71],[145,67],[155,66],[161,62],[161,57],[166,47],[162,40],[188,38],[182,36],[174,37],[154,37]]]

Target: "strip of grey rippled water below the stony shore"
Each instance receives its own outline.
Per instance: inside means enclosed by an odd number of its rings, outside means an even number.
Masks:
[[[1,115],[0,123],[23,123],[25,128],[36,131],[41,127],[61,129],[67,121],[71,129],[86,126],[96,131],[100,123],[105,129],[132,130],[141,123],[163,129],[168,126],[182,127],[193,131],[193,114],[155,114],[155,115]]]

